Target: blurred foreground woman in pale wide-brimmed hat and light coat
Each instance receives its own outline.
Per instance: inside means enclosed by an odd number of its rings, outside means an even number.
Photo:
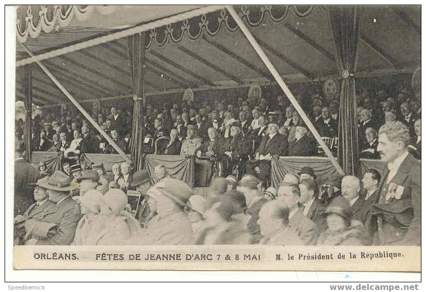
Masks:
[[[192,189],[174,178],[164,178],[148,191],[148,204],[155,215],[139,242],[142,245],[191,245],[195,238],[184,208]]]

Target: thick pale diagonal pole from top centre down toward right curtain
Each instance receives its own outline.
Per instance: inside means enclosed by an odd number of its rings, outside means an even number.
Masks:
[[[269,58],[265,55],[265,52],[262,50],[262,47],[257,43],[257,41],[254,39],[251,32],[248,30],[244,22],[241,20],[240,16],[236,13],[236,11],[233,9],[232,6],[227,6],[226,9],[229,11],[229,13],[232,15],[235,22],[240,27],[241,31],[244,33],[244,35],[247,37],[250,44],[253,46],[256,53],[261,57],[262,61],[265,63],[265,65],[268,67],[269,71],[271,71],[272,76],[277,81],[278,85],[281,87],[282,91],[286,93],[287,97],[289,98],[290,102],[293,104],[294,108],[297,110],[297,112],[300,114],[300,117],[305,122],[306,126],[311,130],[312,134],[314,134],[315,139],[317,139],[318,143],[321,145],[321,148],[324,150],[327,157],[330,159],[330,161],[333,163],[334,167],[336,167],[337,171],[344,175],[342,167],[339,165],[339,163],[334,158],[332,152],[328,149],[327,145],[325,144],[324,140],[321,138],[318,131],[315,129],[314,125],[311,123],[311,120],[307,117],[305,112],[303,111],[302,107],[299,105],[299,103],[296,101],[296,99],[293,96],[293,93],[290,91],[290,89],[287,87],[286,83],[282,80],[281,76],[279,75],[278,71],[275,69],[274,65],[271,63]],[[340,141],[342,142],[342,141]]]

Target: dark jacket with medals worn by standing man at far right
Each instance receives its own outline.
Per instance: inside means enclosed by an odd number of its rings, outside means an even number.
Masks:
[[[389,169],[386,168],[385,174],[378,189],[380,194],[378,196],[377,204],[373,207],[373,220],[374,217],[384,218],[384,224],[381,230],[378,230],[380,238],[387,239],[392,243],[395,240],[400,240],[397,243],[401,245],[420,245],[420,229],[421,229],[421,166],[411,154],[408,154],[406,159],[401,163],[398,172],[391,179],[390,183],[404,187],[400,199],[391,198],[386,201],[386,194],[388,193],[389,185],[386,183],[389,175]],[[392,219],[400,221],[407,221],[407,218],[412,220],[409,223],[407,233],[401,230],[399,224],[392,222]],[[377,230],[377,229],[376,229]],[[405,236],[401,238],[401,234]]]

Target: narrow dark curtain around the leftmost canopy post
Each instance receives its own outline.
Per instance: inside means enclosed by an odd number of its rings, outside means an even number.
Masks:
[[[23,105],[25,107],[25,123],[23,129],[23,146],[25,148],[24,159],[31,161],[31,124],[32,124],[32,103],[33,103],[33,82],[32,82],[32,65],[26,65],[23,68],[22,91],[24,95]]]

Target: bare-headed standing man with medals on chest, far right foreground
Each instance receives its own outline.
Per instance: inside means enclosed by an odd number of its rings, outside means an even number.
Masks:
[[[383,125],[377,151],[388,167],[379,184],[373,215],[378,245],[418,245],[421,230],[421,167],[408,152],[410,130],[400,121]]]

